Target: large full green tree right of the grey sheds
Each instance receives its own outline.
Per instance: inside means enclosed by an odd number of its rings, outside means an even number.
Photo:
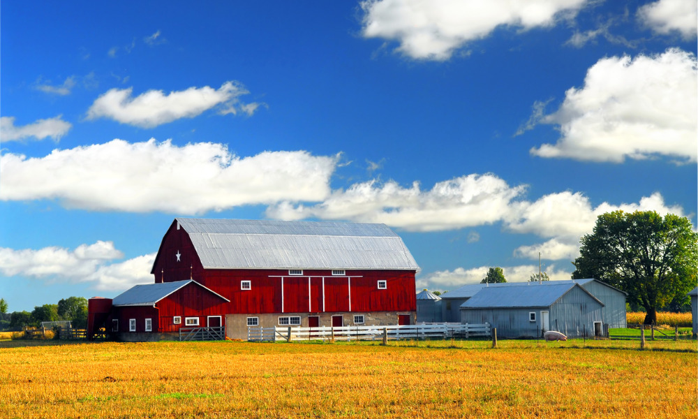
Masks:
[[[607,212],[581,238],[572,278],[595,278],[628,293],[656,323],[657,309],[696,286],[698,233],[683,216],[653,211]]]

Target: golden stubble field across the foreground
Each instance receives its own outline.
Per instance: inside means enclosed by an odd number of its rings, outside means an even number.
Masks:
[[[0,342],[2,418],[695,418],[695,341]]]

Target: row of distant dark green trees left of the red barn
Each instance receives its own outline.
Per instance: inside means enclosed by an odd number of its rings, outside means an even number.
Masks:
[[[40,327],[43,321],[69,320],[73,328],[87,328],[87,298],[68,297],[58,304],[43,304],[29,311],[8,313],[8,303],[0,298],[0,330]]]

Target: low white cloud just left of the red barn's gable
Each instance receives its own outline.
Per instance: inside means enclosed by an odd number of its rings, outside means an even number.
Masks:
[[[156,253],[121,263],[124,254],[113,242],[98,240],[74,250],[63,247],[8,249],[0,247],[0,273],[6,277],[32,277],[49,281],[88,282],[98,290],[113,291],[153,281],[150,274]]]

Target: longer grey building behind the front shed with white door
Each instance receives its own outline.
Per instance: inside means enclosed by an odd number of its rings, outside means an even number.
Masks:
[[[461,304],[468,301],[483,288],[510,287],[510,286],[549,286],[556,284],[579,284],[588,293],[597,298],[604,307],[602,309],[603,321],[609,328],[625,328],[625,297],[627,293],[610,286],[597,279],[570,279],[566,281],[541,281],[538,282],[505,282],[500,284],[468,284],[441,295],[444,321],[460,321]]]

